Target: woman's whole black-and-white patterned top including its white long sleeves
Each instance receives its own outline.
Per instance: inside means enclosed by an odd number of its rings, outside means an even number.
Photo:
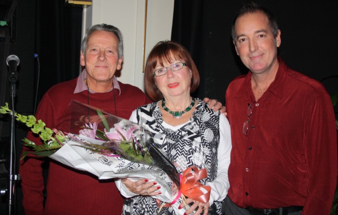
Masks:
[[[176,162],[184,171],[190,166],[206,168],[207,178],[202,184],[211,186],[210,213],[221,214],[221,202],[230,187],[228,167],[230,164],[231,132],[227,118],[219,111],[214,112],[201,99],[193,117],[187,123],[171,126],[162,119],[157,102],[137,108],[130,120],[147,125],[154,135],[154,141],[162,148],[168,158]],[[180,173],[181,170],[177,169]],[[116,185],[125,200],[123,215],[156,215],[159,208],[155,199],[131,193],[120,180]],[[162,208],[160,215],[183,215],[185,209],[178,210],[178,200],[170,208]]]

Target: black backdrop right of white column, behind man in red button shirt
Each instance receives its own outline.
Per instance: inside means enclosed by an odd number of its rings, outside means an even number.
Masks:
[[[191,53],[201,75],[196,96],[223,104],[229,83],[247,69],[236,55],[231,25],[243,0],[175,0],[171,39]],[[279,56],[291,68],[321,80],[338,72],[338,1],[256,0],[269,8],[281,30]],[[323,81],[337,92],[338,78]],[[310,102],[310,101],[309,101]]]

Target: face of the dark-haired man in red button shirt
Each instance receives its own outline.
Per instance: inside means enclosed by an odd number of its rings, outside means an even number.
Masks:
[[[277,47],[280,31],[274,39],[267,16],[261,12],[244,14],[235,23],[237,55],[254,74],[278,68]]]

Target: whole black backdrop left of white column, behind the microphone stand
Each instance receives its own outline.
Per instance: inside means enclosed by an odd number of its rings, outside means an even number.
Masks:
[[[0,1],[0,9],[10,0]],[[18,66],[17,94],[15,110],[22,115],[34,113],[36,104],[53,85],[75,78],[80,70],[80,43],[82,32],[82,7],[65,6],[65,0],[18,0],[16,16],[16,40],[9,44],[5,53],[4,42],[0,41],[0,59],[7,55],[17,55]],[[2,13],[1,13],[2,15]],[[39,65],[34,54],[38,55]],[[5,56],[6,55],[6,56]],[[2,71],[0,61],[0,74]],[[38,73],[39,67],[39,73]],[[0,76],[1,77],[1,76]],[[39,88],[37,91],[37,81]],[[5,89],[5,102],[10,103],[10,83]],[[0,104],[1,106],[4,104]],[[10,118],[0,116],[0,188],[7,188],[9,167]],[[16,174],[22,151],[22,139],[27,127],[15,122]],[[5,160],[5,161],[3,161]],[[16,183],[14,214],[24,215],[20,181]],[[8,214],[7,196],[0,196],[0,214]]]

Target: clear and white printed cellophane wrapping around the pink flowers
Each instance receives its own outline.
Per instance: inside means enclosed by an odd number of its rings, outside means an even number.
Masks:
[[[144,126],[75,100],[71,101],[70,110],[67,141],[50,158],[90,172],[100,180],[126,177],[154,180],[161,186],[161,194],[153,198],[167,203],[175,199],[180,189],[179,173],[161,149],[155,147]],[[96,135],[99,131],[101,135]]]

